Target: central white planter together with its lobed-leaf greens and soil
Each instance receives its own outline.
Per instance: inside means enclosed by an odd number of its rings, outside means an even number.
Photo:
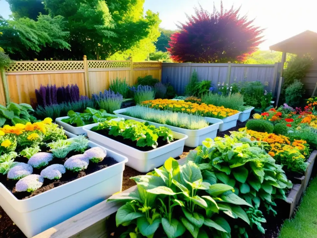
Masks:
[[[183,153],[186,135],[166,127],[146,126],[134,120],[102,122],[84,126],[90,140],[128,157],[127,165],[148,172],[162,165],[166,156]]]

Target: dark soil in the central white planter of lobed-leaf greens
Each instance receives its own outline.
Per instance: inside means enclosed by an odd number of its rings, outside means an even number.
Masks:
[[[120,142],[122,144],[130,146],[130,147],[132,147],[134,149],[138,149],[138,150],[141,150],[141,151],[150,151],[150,150],[154,149],[151,146],[145,146],[145,147],[137,146],[137,142],[136,141],[132,141],[130,139],[124,139],[122,136],[108,135],[108,131],[109,130],[104,129],[104,130],[96,130],[95,132],[100,134],[100,135],[102,135],[102,136],[106,136],[106,137],[108,137],[110,139],[113,139],[113,140],[115,140],[117,142]],[[173,142],[175,142],[175,141],[178,141],[178,139],[174,139],[173,140]],[[165,146],[165,145],[168,144],[167,141],[163,141],[163,136],[159,136],[159,139],[157,140],[157,142],[158,142],[158,147],[157,148]]]

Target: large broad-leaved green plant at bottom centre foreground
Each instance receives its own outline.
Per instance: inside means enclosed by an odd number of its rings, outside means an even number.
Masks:
[[[224,217],[241,218],[249,224],[243,206],[252,207],[233,193],[233,187],[216,183],[212,173],[202,173],[193,162],[179,166],[169,158],[148,175],[132,178],[137,190],[118,194],[108,201],[125,202],[116,214],[116,224],[129,226],[130,237],[231,237]],[[122,237],[125,234],[122,234]]]

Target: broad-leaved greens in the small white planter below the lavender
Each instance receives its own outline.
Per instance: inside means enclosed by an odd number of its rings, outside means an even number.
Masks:
[[[112,114],[108,114],[106,110],[96,110],[93,108],[87,108],[83,113],[78,113],[71,110],[68,111],[67,116],[69,116],[69,118],[62,119],[61,121],[76,127],[97,122],[109,121],[113,118],[117,118]]]

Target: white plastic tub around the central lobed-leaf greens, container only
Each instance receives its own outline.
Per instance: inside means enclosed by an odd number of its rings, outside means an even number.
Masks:
[[[89,140],[126,156],[128,158],[126,165],[142,173],[147,173],[163,165],[169,157],[176,158],[181,155],[184,150],[185,140],[188,138],[184,134],[172,131],[173,138],[178,139],[177,141],[150,151],[141,151],[90,130],[96,125],[97,123],[83,128]]]

